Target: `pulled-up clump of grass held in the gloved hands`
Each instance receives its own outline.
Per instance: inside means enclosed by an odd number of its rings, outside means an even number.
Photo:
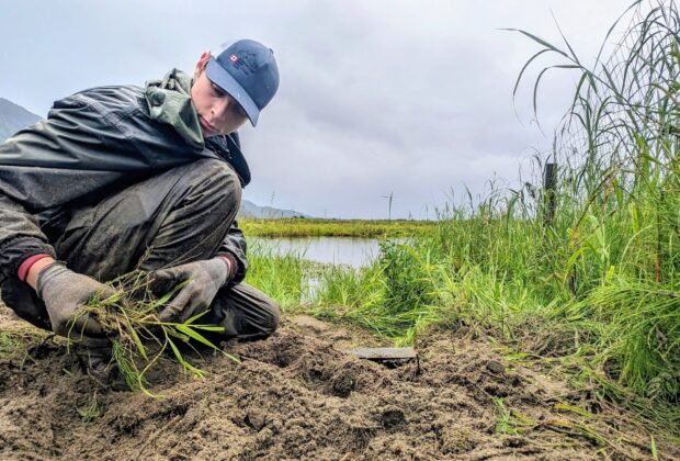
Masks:
[[[154,395],[146,374],[166,352],[171,352],[174,360],[196,378],[204,378],[205,372],[184,358],[183,348],[199,352],[196,346],[202,345],[238,361],[206,338],[206,333],[219,333],[224,327],[200,324],[205,313],[196,314],[184,323],[159,321],[158,313],[185,283],[157,297],[149,289],[151,280],[152,276],[148,272],[125,274],[111,282],[120,295],[106,299],[94,296],[78,314],[94,317],[112,339],[113,359],[132,390]],[[78,331],[71,331],[69,337],[77,338]]]

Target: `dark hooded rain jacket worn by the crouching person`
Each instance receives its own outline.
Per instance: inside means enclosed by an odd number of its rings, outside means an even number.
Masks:
[[[180,74],[169,76],[173,72]],[[50,216],[98,203],[170,168],[219,159],[231,166],[241,187],[248,184],[237,133],[205,140],[199,134],[192,142],[181,135],[185,126],[175,130],[152,117],[149,105],[155,103],[136,86],[86,90],[56,101],[47,120],[0,145],[0,280],[15,276],[30,256],[55,256],[41,229]],[[218,250],[227,254],[237,261],[238,282],[248,261],[236,222]]]

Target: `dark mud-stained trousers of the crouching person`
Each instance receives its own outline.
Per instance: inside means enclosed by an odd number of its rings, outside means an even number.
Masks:
[[[110,281],[214,257],[238,211],[236,173],[218,160],[177,167],[45,222],[57,258],[76,272]],[[3,281],[2,301],[20,317],[52,330],[45,304],[18,278]],[[224,339],[260,339],[280,322],[280,308],[246,284],[217,292],[202,324],[225,328]]]

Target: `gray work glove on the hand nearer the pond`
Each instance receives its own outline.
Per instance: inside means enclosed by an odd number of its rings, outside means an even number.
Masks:
[[[224,258],[189,262],[154,272],[151,290],[158,295],[169,293],[178,283],[186,285],[160,312],[161,322],[184,323],[207,311],[217,291],[229,281],[229,265]]]

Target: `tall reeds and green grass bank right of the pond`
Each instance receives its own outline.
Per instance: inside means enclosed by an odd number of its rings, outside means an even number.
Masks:
[[[490,333],[680,435],[680,14],[631,11],[594,69],[536,40],[581,76],[549,153],[554,191],[537,157],[521,190],[451,205],[371,267],[317,273],[303,307],[397,344],[432,326]],[[305,277],[279,286],[290,306]]]

